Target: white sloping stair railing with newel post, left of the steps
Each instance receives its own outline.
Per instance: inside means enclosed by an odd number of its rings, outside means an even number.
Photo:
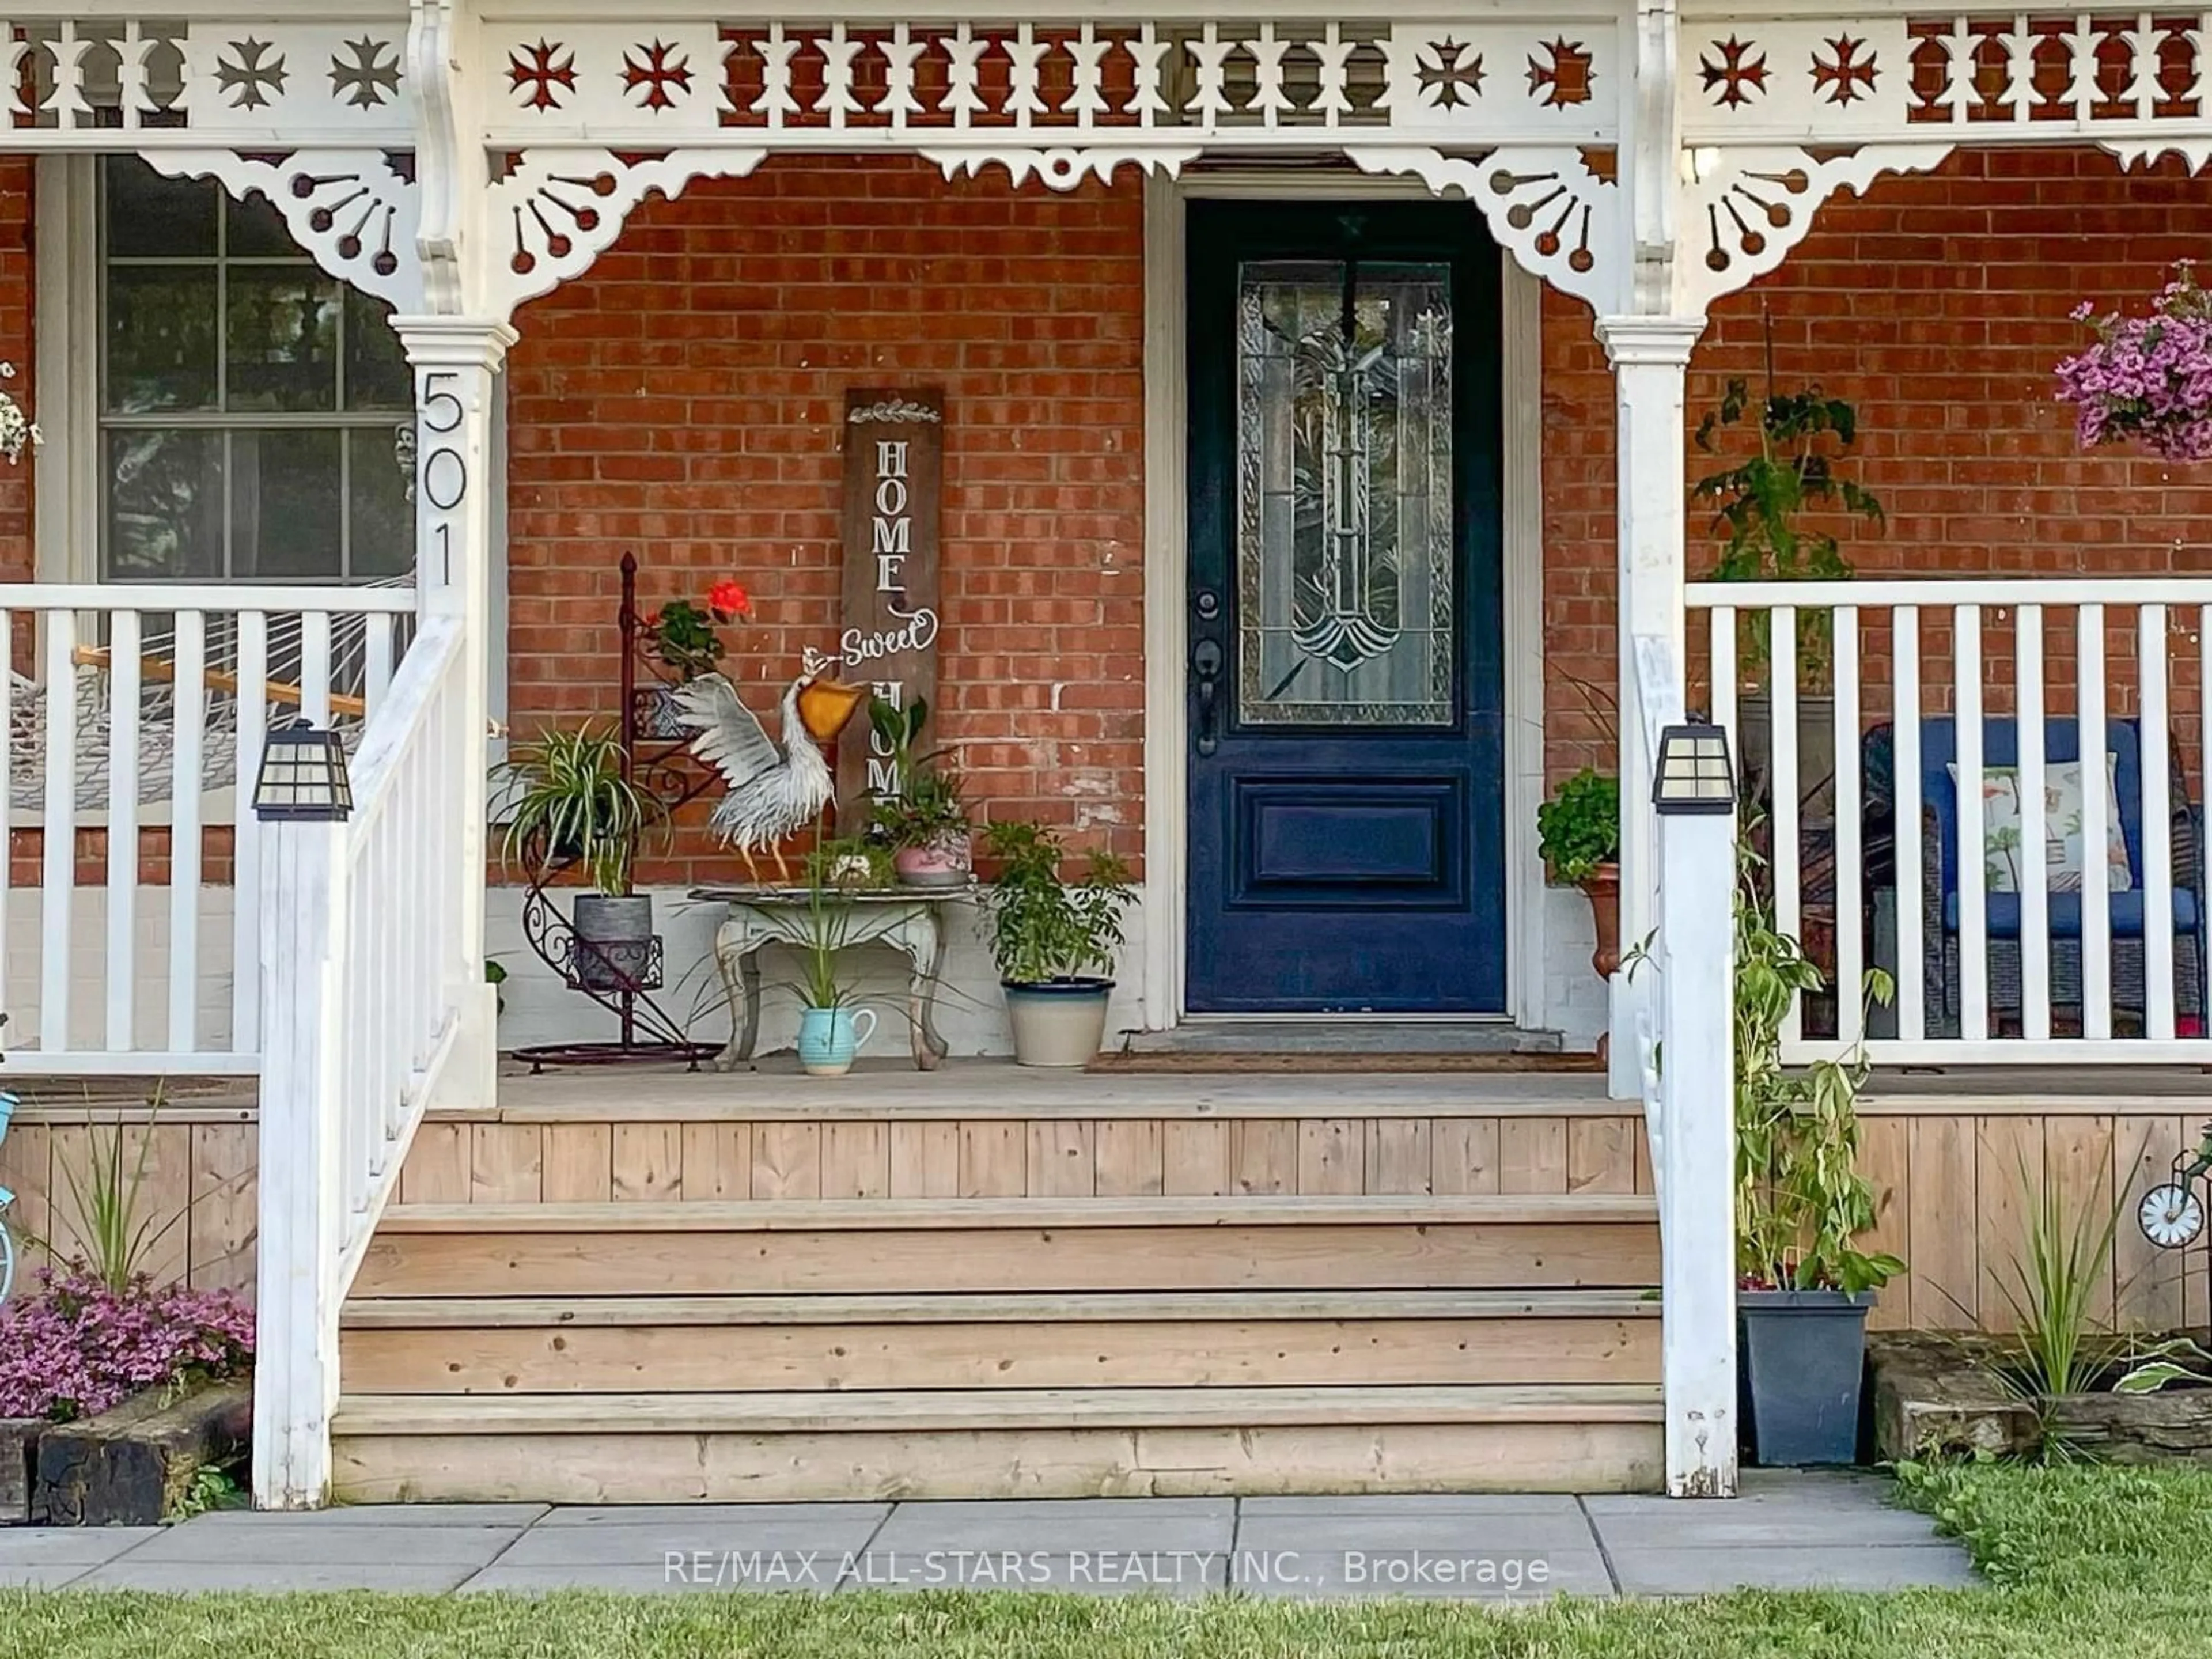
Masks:
[[[254,1495],[272,1509],[327,1502],[338,1305],[482,980],[458,925],[480,902],[465,630],[458,615],[422,626],[361,741],[349,821],[261,825]]]

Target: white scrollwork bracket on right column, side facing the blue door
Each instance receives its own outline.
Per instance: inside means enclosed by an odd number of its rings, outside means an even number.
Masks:
[[[1436,195],[1460,192],[1522,270],[1586,301],[1621,307],[1628,281],[1621,192],[1573,146],[1504,146],[1482,159],[1427,148],[1347,146],[1363,173],[1411,173]]]

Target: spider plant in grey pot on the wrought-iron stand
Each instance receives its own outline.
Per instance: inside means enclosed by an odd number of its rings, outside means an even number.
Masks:
[[[575,865],[597,887],[577,894],[571,980],[584,991],[635,989],[653,960],[653,896],[630,891],[646,830],[666,810],[628,776],[622,739],[584,723],[515,743],[495,774],[507,812],[502,865],[520,860],[535,885]]]

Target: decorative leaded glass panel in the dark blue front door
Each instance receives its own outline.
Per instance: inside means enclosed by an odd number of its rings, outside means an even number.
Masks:
[[[1451,268],[1245,261],[1241,723],[1453,723],[1451,489]]]

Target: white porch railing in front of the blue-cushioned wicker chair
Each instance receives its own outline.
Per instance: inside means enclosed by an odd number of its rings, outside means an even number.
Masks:
[[[2212,580],[1694,584],[1688,604],[1712,717],[1765,774],[1776,918],[1834,987],[1792,1011],[1785,1057],[2212,1060]],[[1995,772],[2013,787],[1989,803],[1958,787]],[[2059,783],[2086,847],[2066,865]],[[1856,995],[1867,967],[1896,975],[1893,1009]]]

